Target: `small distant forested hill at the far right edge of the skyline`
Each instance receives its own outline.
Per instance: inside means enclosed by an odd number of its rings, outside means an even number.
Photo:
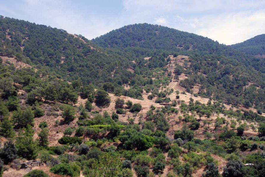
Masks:
[[[247,39],[244,42],[231,45],[234,49],[250,54],[250,55],[264,55],[265,54],[265,34],[255,36]]]

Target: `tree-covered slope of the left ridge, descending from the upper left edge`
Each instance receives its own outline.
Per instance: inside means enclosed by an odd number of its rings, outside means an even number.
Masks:
[[[88,39],[62,29],[0,18],[1,55],[35,65],[41,75],[99,84],[112,81],[111,72],[117,66],[122,70],[132,64],[121,55],[93,47]]]

